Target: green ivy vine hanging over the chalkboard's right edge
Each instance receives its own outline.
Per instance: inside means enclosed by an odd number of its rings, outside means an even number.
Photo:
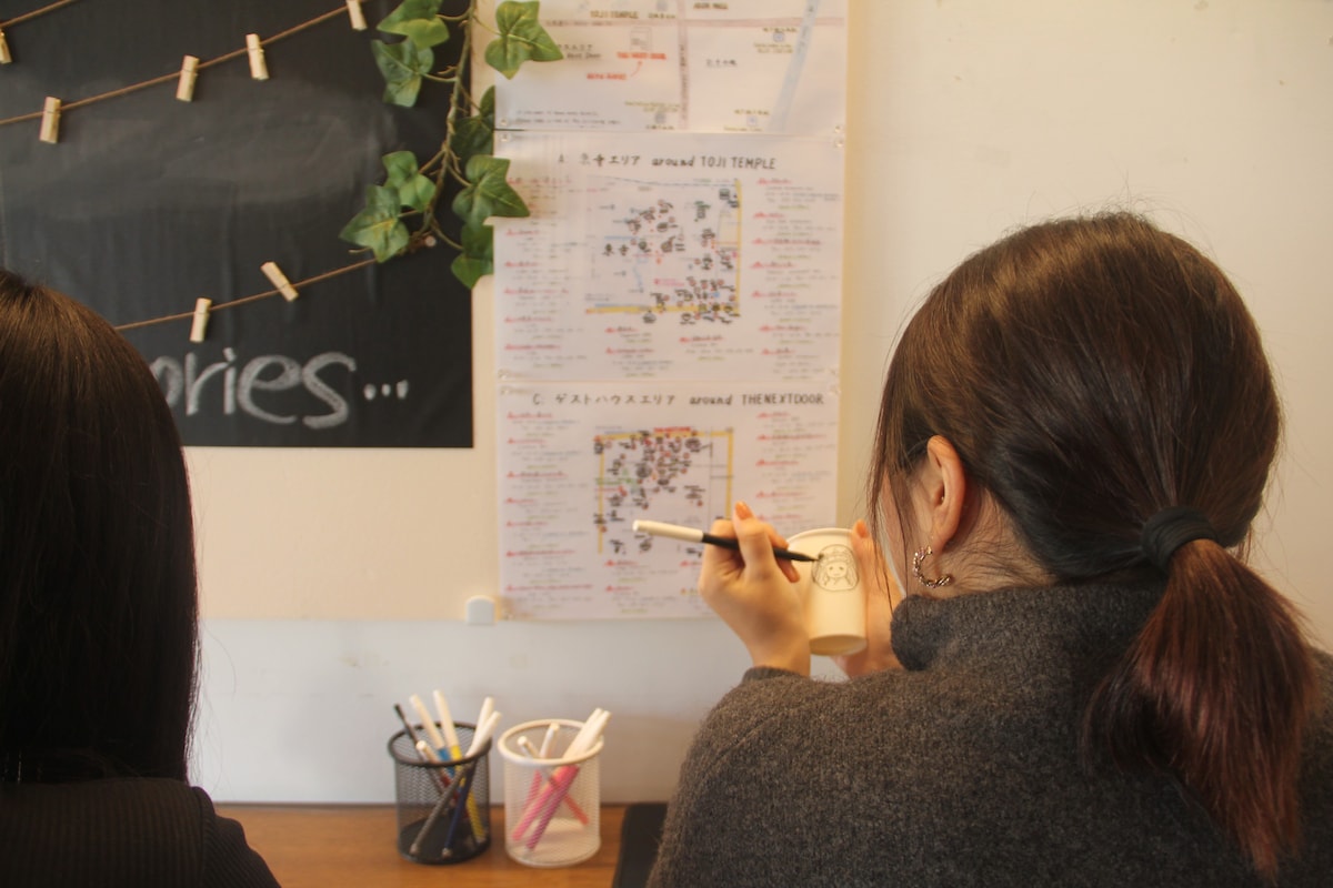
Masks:
[[[412,253],[421,246],[445,242],[457,252],[453,276],[472,288],[493,269],[492,216],[524,217],[528,206],[509,185],[509,161],[495,156],[495,89],[480,99],[469,91],[469,61],[475,28],[495,39],[485,48],[485,61],[512,79],[525,61],[563,59],[560,47],[539,20],[539,3],[504,0],[496,7],[495,27],[479,15],[480,0],[455,16],[440,13],[443,0],[403,0],[377,29],[399,40],[375,40],[371,49],[384,75],[384,101],[413,107],[421,89],[440,83],[452,89],[444,142],[433,157],[417,162],[408,150],[385,154],[383,185],[368,185],[365,206],[339,234],[344,241],[375,253],[379,262]],[[435,71],[435,49],[452,40],[463,41],[459,61]],[[461,221],[451,237],[437,217],[437,202],[449,182],[459,185],[449,209]]]

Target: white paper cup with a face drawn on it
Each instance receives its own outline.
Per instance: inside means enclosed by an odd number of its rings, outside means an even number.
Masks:
[[[805,603],[805,628],[810,654],[856,654],[865,647],[865,584],[852,551],[852,531],[821,527],[789,537],[793,553],[813,555],[817,562],[792,562],[801,575],[798,590]]]

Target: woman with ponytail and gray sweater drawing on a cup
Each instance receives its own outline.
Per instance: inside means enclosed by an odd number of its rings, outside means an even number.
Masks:
[[[1240,296],[1146,220],[968,258],[889,366],[848,682],[808,678],[782,538],[713,526],[753,668],[653,884],[1333,884],[1333,659],[1244,560],[1280,425]]]

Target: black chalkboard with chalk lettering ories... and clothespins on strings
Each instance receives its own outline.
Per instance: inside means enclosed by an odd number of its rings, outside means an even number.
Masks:
[[[7,28],[0,120],[344,9],[267,45],[268,80],[241,55],[201,71],[192,103],[172,79],[69,109],[53,145],[40,121],[0,126],[0,264],[121,325],[188,313],[200,296],[217,306],[271,290],[267,261],[301,281],[367,258],[339,232],[384,180],[383,154],[435,153],[448,101],[441,84],[416,108],[381,101],[369,43],[396,40],[375,31],[393,5],[365,3],[361,32],[341,0],[80,0]],[[189,320],[127,337],[191,445],[469,447],[471,293],[451,261],[421,250],[293,302],[215,310],[201,343]]]

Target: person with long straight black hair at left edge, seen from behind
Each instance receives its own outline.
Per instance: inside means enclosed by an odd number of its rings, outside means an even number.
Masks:
[[[0,884],[275,885],[187,781],[189,483],[139,353],[0,269]]]

